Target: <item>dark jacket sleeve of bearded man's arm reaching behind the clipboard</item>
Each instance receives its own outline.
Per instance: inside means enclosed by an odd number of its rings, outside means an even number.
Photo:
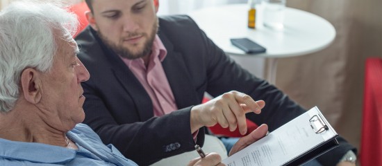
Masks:
[[[304,113],[306,109],[288,98],[282,91],[267,81],[256,77],[236,64],[233,59],[218,48],[201,32],[206,45],[205,56],[208,86],[206,91],[216,97],[227,91],[240,91],[251,95],[254,100],[264,100],[265,107],[259,115],[247,113],[247,118],[256,124],[268,124],[269,131],[274,131],[286,122]],[[339,137],[340,146],[319,156],[322,165],[335,165],[349,150],[356,153],[356,148],[344,138]]]

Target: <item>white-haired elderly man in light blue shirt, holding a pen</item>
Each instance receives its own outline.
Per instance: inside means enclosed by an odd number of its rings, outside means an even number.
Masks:
[[[0,165],[136,165],[81,124],[90,75],[76,57],[76,17],[62,7],[17,1],[0,12]],[[231,153],[266,132],[264,124]],[[211,153],[189,165],[220,160]]]

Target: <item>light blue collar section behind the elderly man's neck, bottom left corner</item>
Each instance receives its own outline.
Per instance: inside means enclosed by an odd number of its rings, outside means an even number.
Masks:
[[[73,160],[76,151],[35,142],[19,142],[0,138],[0,156],[34,163],[65,163]]]

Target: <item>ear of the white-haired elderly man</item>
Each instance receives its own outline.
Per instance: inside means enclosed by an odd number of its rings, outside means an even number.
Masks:
[[[21,86],[22,93],[26,101],[37,104],[41,100],[42,87],[40,86],[40,73],[33,68],[26,68],[22,71]]]

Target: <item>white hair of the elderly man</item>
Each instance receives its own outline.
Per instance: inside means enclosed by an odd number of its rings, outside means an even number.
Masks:
[[[13,1],[0,12],[0,113],[19,98],[25,68],[49,72],[57,42],[72,41],[78,21],[62,1]]]

